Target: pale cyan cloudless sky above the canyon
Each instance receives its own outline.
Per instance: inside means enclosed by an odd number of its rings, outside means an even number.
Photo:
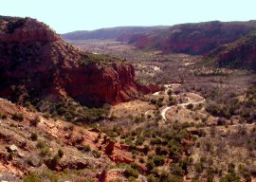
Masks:
[[[0,15],[29,16],[58,33],[101,27],[256,20],[255,0],[2,0]]]

